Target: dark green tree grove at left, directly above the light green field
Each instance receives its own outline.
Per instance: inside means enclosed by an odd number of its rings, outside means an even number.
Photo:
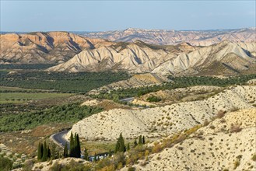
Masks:
[[[125,72],[0,72],[0,86],[85,93],[129,77]]]

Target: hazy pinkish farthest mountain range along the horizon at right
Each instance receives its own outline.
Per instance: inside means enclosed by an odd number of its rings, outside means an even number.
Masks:
[[[181,44],[188,42],[195,46],[209,46],[223,40],[231,42],[252,42],[256,39],[256,28],[236,30],[143,30],[128,28],[121,31],[79,32],[84,37],[102,38],[110,41],[135,42],[142,40],[148,44]]]

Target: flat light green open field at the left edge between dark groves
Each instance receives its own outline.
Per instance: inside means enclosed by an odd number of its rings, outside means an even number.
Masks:
[[[54,93],[54,92],[3,92],[0,93],[0,103],[23,103],[32,99],[51,99],[56,97],[71,96],[68,93]]]

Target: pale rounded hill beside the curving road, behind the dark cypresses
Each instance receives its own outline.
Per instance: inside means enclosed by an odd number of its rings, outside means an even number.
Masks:
[[[135,138],[139,134],[156,138],[203,124],[205,120],[216,116],[219,110],[249,109],[255,105],[256,86],[237,86],[204,100],[145,110],[103,111],[80,120],[71,131],[88,140],[114,140],[120,133],[125,138]]]

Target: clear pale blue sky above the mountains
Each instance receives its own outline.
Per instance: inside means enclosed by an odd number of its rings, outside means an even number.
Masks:
[[[0,31],[255,27],[256,1],[1,1]]]

